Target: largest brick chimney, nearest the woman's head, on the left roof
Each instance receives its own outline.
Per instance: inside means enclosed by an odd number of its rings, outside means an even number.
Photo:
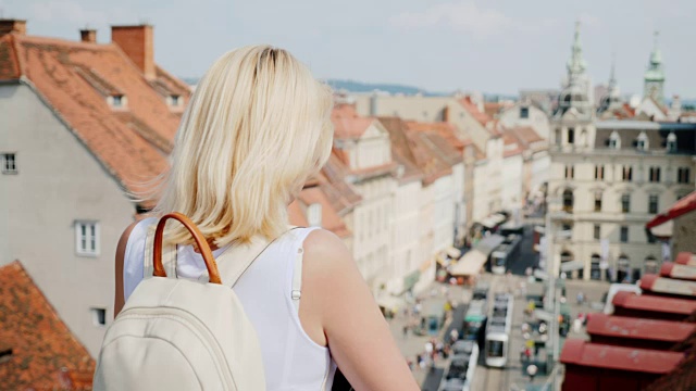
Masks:
[[[111,26],[111,41],[140,68],[145,78],[156,78],[151,25]]]

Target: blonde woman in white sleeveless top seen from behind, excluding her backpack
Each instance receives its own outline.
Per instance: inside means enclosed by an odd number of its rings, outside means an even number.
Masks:
[[[219,256],[254,236],[276,239],[235,285],[257,329],[269,390],[331,389],[336,365],[357,390],[418,390],[370,289],[343,242],[313,228],[287,232],[287,205],[328,159],[331,91],[287,51],[246,47],[200,80],[176,135],[156,215],[181,212]],[[142,279],[148,226],[128,227],[116,251],[115,313]],[[177,274],[206,269],[184,228]],[[290,298],[303,249],[299,311]]]

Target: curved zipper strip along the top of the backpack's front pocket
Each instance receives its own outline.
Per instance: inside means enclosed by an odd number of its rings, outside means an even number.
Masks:
[[[237,390],[237,386],[235,384],[232,371],[229,370],[227,358],[222,352],[220,342],[217,342],[210,329],[199,318],[181,308],[134,307],[124,311],[119,316],[117,320],[126,320],[130,318],[169,318],[182,323],[184,326],[189,327],[189,329],[192,328],[191,331],[194,331],[208,345],[209,350],[213,352],[216,362],[223,364],[222,368],[220,367],[220,365],[217,365],[217,373],[221,375],[221,378],[225,384],[225,390]]]

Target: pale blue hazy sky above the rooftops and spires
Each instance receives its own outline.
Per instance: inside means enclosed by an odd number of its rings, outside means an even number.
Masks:
[[[321,78],[506,94],[559,88],[581,21],[593,83],[607,83],[616,53],[621,91],[642,93],[659,30],[666,94],[696,98],[694,0],[0,0],[0,17],[71,40],[89,26],[100,42],[111,25],[149,23],[157,63],[181,77],[270,43]]]

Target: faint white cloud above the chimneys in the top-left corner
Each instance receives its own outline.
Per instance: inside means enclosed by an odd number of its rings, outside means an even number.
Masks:
[[[103,25],[109,13],[85,9],[74,0],[52,0],[32,5],[32,18],[41,22],[66,21],[73,24]]]

